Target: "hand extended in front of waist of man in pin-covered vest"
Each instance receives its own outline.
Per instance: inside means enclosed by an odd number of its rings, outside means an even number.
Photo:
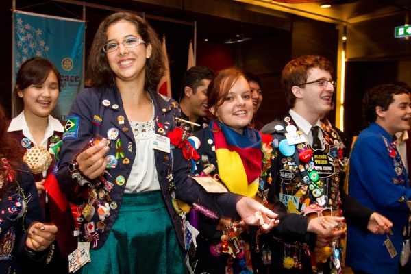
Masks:
[[[325,247],[345,234],[345,230],[342,229],[343,221],[343,217],[323,216],[313,218],[308,223],[307,231],[317,234],[317,247]]]

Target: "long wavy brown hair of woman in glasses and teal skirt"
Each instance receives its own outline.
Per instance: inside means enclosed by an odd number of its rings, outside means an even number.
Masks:
[[[107,16],[99,25],[88,55],[86,83],[88,86],[114,85],[114,73],[108,64],[103,46],[107,43],[107,29],[110,25],[121,21],[129,21],[134,26],[142,40],[151,45],[151,56],[145,64],[145,89],[156,90],[158,82],[164,73],[162,45],[158,35],[151,25],[143,18],[129,12],[117,12]]]

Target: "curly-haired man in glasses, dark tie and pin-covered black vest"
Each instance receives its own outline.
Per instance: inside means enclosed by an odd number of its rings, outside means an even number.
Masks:
[[[277,195],[289,212],[303,215],[329,208],[327,211],[342,216],[343,209],[347,221],[362,230],[386,232],[392,226],[390,221],[340,190],[345,177],[341,161],[345,146],[338,133],[320,121],[321,114],[331,109],[336,87],[333,71],[329,60],[314,55],[302,56],[284,67],[282,85],[291,108],[282,119],[262,128],[262,132],[273,136],[275,151],[269,178],[259,194],[269,202]],[[332,269],[341,271],[341,248],[336,242],[328,247],[329,242],[310,233],[306,234],[306,241],[267,238],[265,244],[271,246],[271,254],[280,254],[276,258],[273,255],[273,270],[327,273],[331,270],[327,269],[329,264],[322,262],[331,255]]]

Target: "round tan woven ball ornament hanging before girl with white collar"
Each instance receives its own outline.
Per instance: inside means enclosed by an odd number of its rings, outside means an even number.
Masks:
[[[23,157],[23,162],[29,166],[30,171],[34,174],[47,171],[51,160],[51,155],[47,152],[47,149],[42,146],[34,146],[28,149]]]

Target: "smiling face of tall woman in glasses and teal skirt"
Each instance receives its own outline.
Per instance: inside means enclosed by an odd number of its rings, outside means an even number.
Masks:
[[[107,43],[119,43],[116,51],[106,53],[108,64],[116,75],[116,82],[144,81],[145,63],[151,55],[151,45],[141,43],[127,48],[122,42],[128,38],[141,38],[131,22],[121,20],[108,27]]]

